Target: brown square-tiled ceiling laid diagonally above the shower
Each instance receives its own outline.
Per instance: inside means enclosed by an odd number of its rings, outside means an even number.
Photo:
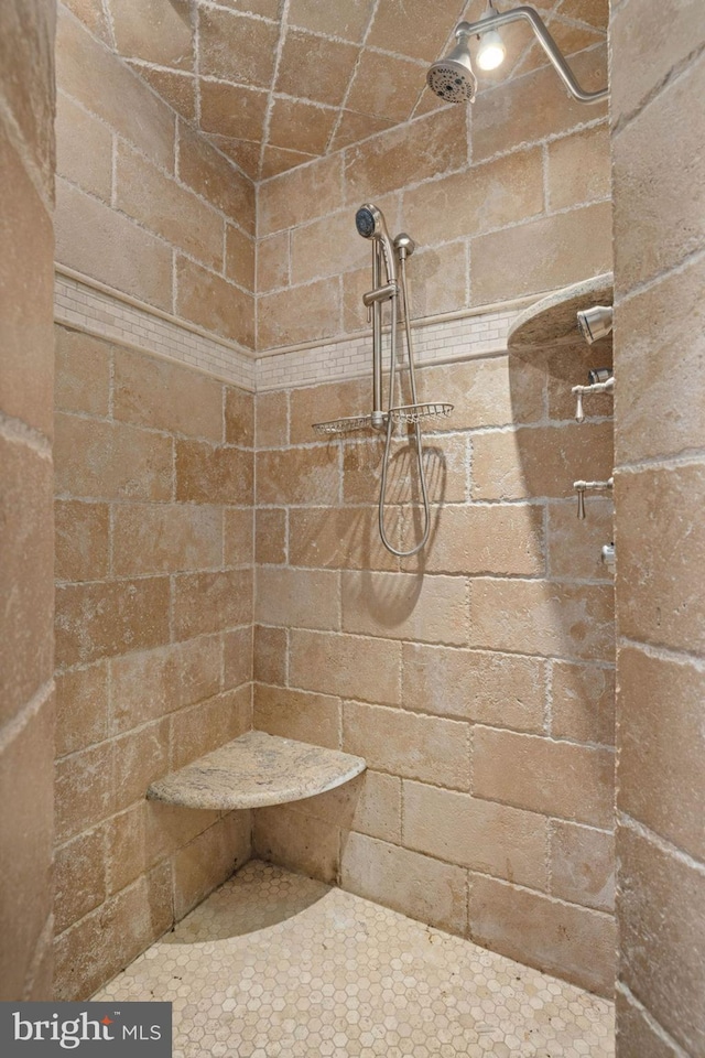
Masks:
[[[94,0],[96,2],[96,0]],[[98,0],[115,50],[253,180],[442,106],[425,71],[485,0]],[[509,10],[514,3],[499,3]],[[539,12],[566,54],[605,37],[608,0]],[[525,24],[481,85],[545,61]],[[556,90],[562,90],[556,85]]]

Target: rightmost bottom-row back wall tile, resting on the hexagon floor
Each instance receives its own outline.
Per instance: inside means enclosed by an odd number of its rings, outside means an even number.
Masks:
[[[470,939],[598,995],[612,994],[616,936],[611,915],[563,904],[495,878],[471,877]]]

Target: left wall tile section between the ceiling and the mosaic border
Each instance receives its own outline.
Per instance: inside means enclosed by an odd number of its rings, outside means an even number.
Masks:
[[[254,346],[254,187],[59,3],[56,257]]]

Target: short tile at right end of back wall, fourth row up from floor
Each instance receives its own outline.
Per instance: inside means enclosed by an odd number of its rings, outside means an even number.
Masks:
[[[614,745],[614,669],[570,661],[554,661],[551,668],[551,734]]]

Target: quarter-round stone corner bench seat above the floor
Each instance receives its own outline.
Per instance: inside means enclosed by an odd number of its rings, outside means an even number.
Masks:
[[[262,808],[324,794],[366,767],[362,757],[250,731],[152,782],[147,796],[182,808]]]

